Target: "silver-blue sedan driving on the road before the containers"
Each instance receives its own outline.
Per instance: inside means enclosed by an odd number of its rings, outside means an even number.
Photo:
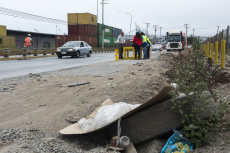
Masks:
[[[68,41],[56,51],[58,58],[62,58],[62,56],[80,57],[82,55],[90,57],[91,53],[92,47],[84,41]]]

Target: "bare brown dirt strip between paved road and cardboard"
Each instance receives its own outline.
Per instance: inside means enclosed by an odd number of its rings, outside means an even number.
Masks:
[[[25,83],[12,84],[12,92],[1,94],[0,128],[35,127],[46,133],[58,132],[90,114],[106,99],[142,104],[162,86],[165,79],[160,78],[161,71],[155,60],[109,75],[35,76]],[[68,87],[80,82],[88,84]]]

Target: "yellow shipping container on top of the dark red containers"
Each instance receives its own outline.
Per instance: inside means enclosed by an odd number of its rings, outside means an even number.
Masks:
[[[97,26],[97,16],[90,13],[68,13],[68,25],[90,24]]]

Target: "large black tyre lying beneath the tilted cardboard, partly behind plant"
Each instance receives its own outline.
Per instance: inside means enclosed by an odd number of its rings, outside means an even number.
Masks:
[[[205,97],[213,104],[215,103],[210,92],[205,92]],[[176,100],[183,101],[186,99],[186,96],[179,96]],[[172,106],[172,99],[169,99],[148,106],[121,119],[121,135],[128,136],[133,144],[136,145],[149,139],[173,133],[174,128],[182,128],[181,116],[171,109]],[[207,114],[202,114],[202,116],[203,118],[209,117]],[[110,126],[108,132],[111,138],[116,136],[117,123]]]

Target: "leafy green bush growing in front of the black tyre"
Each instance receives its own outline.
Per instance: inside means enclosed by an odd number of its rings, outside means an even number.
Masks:
[[[205,54],[200,51],[200,42],[200,38],[195,39],[193,51],[186,61],[182,60],[184,65],[178,66],[182,69],[174,70],[173,77],[178,88],[170,92],[173,97],[172,109],[182,116],[181,122],[184,124],[182,132],[196,147],[210,144],[213,140],[212,132],[221,126],[221,115],[227,110],[226,102],[214,105],[206,98],[204,91],[208,90],[207,80],[210,74],[204,70]],[[176,91],[185,93],[187,100],[177,101]],[[215,95],[216,93],[213,93],[213,96]],[[210,117],[204,119],[204,114]]]

